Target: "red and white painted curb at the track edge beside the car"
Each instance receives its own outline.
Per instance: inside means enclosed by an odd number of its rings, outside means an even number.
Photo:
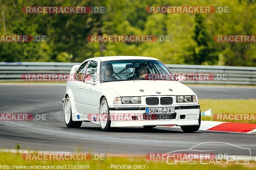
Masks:
[[[167,127],[180,129],[180,126],[167,126]],[[256,134],[256,124],[236,123],[236,122],[201,121],[201,126],[200,126],[199,130]]]

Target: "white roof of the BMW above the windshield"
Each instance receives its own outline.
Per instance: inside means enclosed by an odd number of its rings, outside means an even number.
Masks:
[[[130,55],[118,55],[118,56],[105,56],[105,57],[94,57],[88,58],[87,60],[98,59],[100,62],[103,61],[112,61],[112,60],[158,60],[157,58],[153,57],[143,57],[143,56],[130,56]],[[159,61],[159,60],[158,60]]]

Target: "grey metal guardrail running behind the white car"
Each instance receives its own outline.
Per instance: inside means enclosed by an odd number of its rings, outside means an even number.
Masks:
[[[0,62],[0,82],[22,81],[22,74],[33,73],[69,73],[73,65],[80,63],[47,63],[47,62]],[[208,66],[208,65],[180,65],[166,64],[172,73],[209,73],[214,74],[215,80],[186,80],[192,84],[229,84],[256,85],[256,67]],[[227,76],[221,79],[221,75]]]

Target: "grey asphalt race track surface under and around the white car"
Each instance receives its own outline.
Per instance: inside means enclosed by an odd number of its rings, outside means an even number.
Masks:
[[[250,88],[191,88],[199,98],[256,98],[256,90]],[[1,113],[46,114],[46,120],[0,121],[0,148],[14,149],[20,144],[21,149],[30,150],[146,154],[189,149],[202,142],[224,142],[250,148],[252,155],[256,155],[255,134],[200,130],[183,133],[181,129],[169,127],[103,132],[91,122],[83,122],[79,129],[67,128],[62,105],[65,86],[0,85],[0,92]],[[250,155],[246,149],[224,143],[205,143],[197,149]]]

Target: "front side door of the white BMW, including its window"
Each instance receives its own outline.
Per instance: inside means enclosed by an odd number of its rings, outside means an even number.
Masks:
[[[86,69],[84,81],[79,85],[79,103],[82,114],[94,114],[97,111],[98,99],[96,97],[97,80],[91,80],[97,74],[98,62],[91,61]],[[89,80],[90,79],[90,80]],[[86,83],[86,81],[91,83]]]

